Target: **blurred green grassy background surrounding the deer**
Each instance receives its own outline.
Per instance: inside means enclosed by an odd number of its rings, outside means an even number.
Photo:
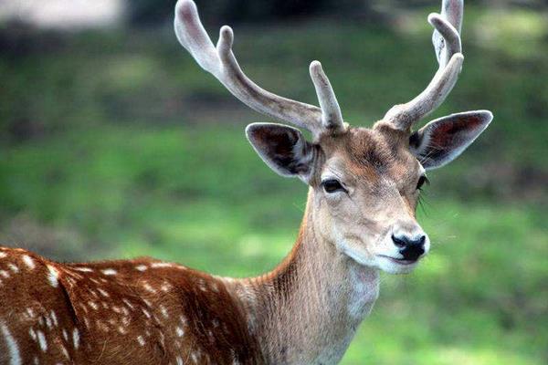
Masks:
[[[252,151],[243,130],[268,119],[176,43],[173,1],[120,0],[97,24],[44,24],[27,16],[44,14],[36,2],[15,3],[0,2],[5,245],[59,260],[152,255],[222,276],[279,263],[307,189]],[[308,65],[320,59],[353,125],[416,96],[437,68],[426,22],[437,1],[197,3],[214,39],[234,25],[243,68],[280,95],[316,103]],[[343,364],[548,363],[548,8],[467,1],[463,41],[463,73],[432,118],[495,120],[429,174],[419,216],[432,253],[410,276],[382,276]]]

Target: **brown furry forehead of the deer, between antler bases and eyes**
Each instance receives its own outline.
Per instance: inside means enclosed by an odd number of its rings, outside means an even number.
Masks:
[[[321,177],[332,174],[358,185],[405,185],[423,170],[409,151],[408,135],[399,130],[350,128],[319,144],[324,153]]]

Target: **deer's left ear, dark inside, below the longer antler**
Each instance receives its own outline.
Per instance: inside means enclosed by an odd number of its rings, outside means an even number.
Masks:
[[[281,124],[253,123],[248,125],[246,135],[272,170],[309,182],[316,153],[300,130]]]

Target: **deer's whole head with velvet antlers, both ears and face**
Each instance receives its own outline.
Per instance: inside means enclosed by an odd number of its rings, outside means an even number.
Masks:
[[[198,64],[237,99],[269,117],[311,131],[272,123],[250,124],[248,140],[269,167],[298,177],[310,186],[311,225],[362,266],[406,273],[427,255],[430,241],[416,222],[420,189],[427,171],[453,161],[487,128],[490,111],[477,110],[433,120],[413,131],[455,86],[464,57],[460,26],[463,2],[443,0],[441,14],[431,14],[439,68],[427,88],[396,105],[372,128],[351,127],[318,61],[311,63],[320,107],[285,99],[261,89],[238,66],[232,52],[232,29],[223,26],[216,47],[200,23],[195,3],[179,0],[175,33]]]

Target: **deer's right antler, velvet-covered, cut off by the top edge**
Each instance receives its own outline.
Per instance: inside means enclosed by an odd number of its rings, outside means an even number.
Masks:
[[[406,104],[396,105],[385,115],[384,121],[398,130],[409,130],[448,97],[457,82],[464,56],[461,53],[459,30],[462,24],[462,0],[443,0],[441,15],[428,16],[434,26],[432,42],[439,68],[423,92]]]

